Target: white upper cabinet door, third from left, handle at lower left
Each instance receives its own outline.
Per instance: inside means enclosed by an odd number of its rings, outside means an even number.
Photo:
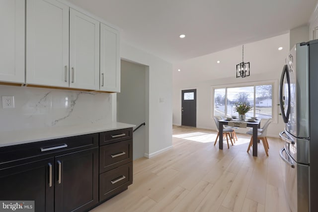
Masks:
[[[70,9],[70,87],[99,90],[99,21]]]

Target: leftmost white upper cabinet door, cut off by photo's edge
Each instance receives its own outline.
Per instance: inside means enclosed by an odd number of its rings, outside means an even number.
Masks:
[[[24,83],[24,0],[0,1],[0,81]]]

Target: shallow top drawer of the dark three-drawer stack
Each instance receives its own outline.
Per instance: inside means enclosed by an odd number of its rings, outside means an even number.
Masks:
[[[133,138],[133,128],[112,130],[99,133],[99,145],[106,145],[118,141],[125,141]]]

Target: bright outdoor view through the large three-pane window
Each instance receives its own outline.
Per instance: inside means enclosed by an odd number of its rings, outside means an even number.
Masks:
[[[238,116],[235,103],[245,102],[252,106],[252,109],[245,114],[246,117],[272,118],[272,90],[272,84],[216,88],[214,89],[214,116]]]

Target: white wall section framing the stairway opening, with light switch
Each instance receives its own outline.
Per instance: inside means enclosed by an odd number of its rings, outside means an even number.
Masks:
[[[172,147],[172,64],[125,43],[121,45],[121,57],[149,67],[149,145],[145,156],[152,157]],[[160,98],[163,103],[159,103]]]

